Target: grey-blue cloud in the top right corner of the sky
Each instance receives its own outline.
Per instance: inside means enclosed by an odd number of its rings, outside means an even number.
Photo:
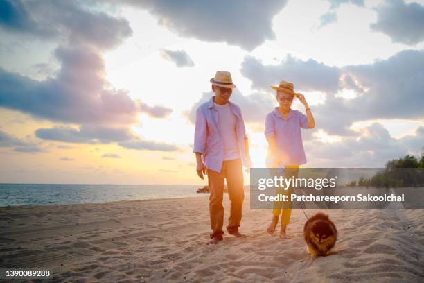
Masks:
[[[377,22],[372,31],[389,36],[393,42],[415,45],[424,40],[424,7],[403,0],[388,0],[375,8]]]

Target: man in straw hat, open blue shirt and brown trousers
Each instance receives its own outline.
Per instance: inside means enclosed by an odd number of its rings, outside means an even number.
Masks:
[[[236,85],[227,71],[217,71],[211,78],[214,96],[196,111],[193,152],[197,160],[197,175],[208,175],[209,215],[212,233],[210,243],[222,240],[224,224],[224,179],[227,179],[231,202],[227,231],[235,237],[246,237],[238,232],[245,198],[242,164],[250,167],[249,146],[240,108],[229,101]]]

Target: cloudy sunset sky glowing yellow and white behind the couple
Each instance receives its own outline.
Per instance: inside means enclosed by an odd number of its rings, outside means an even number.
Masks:
[[[0,182],[206,185],[194,119],[215,71],[255,167],[280,80],[315,117],[303,167],[423,150],[424,1],[0,0],[0,38]]]

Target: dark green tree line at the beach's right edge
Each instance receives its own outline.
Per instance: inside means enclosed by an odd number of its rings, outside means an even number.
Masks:
[[[389,160],[384,169],[371,178],[351,180],[348,187],[422,187],[424,185],[424,156],[406,155]]]

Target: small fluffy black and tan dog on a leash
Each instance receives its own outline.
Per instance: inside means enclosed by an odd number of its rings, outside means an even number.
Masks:
[[[303,239],[312,259],[318,255],[327,255],[337,241],[337,229],[327,214],[318,212],[306,221]]]

